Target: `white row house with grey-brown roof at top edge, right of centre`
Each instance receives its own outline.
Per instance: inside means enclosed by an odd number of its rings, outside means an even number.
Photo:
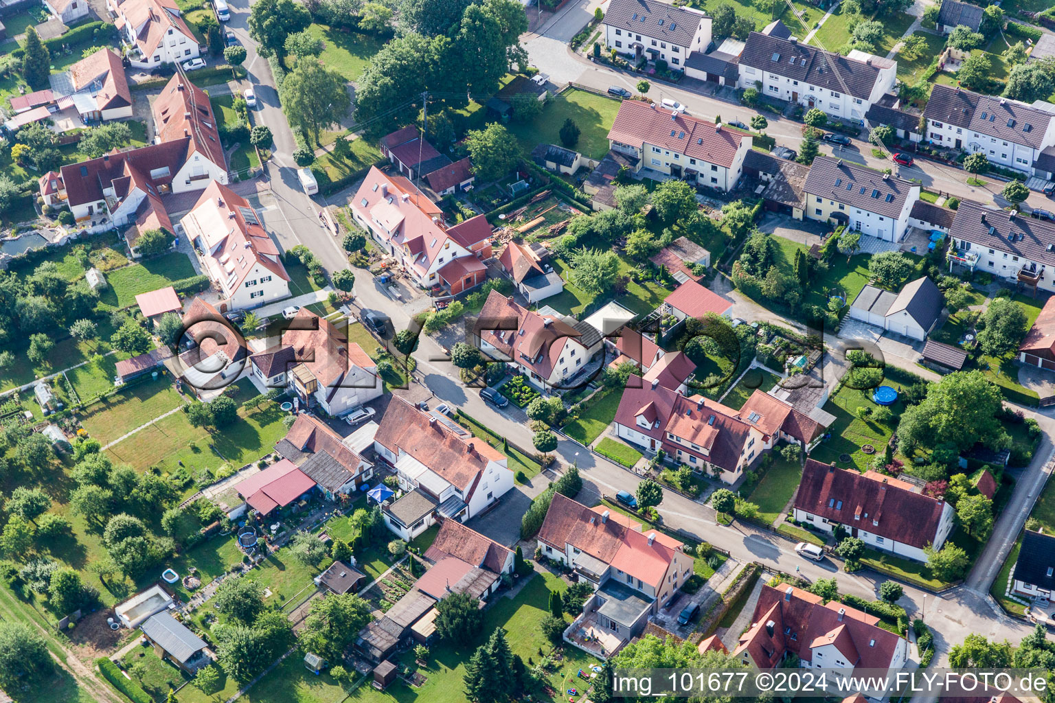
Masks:
[[[658,0],[612,0],[601,26],[605,46],[637,63],[666,61],[677,71],[691,52],[707,51],[711,18]]]

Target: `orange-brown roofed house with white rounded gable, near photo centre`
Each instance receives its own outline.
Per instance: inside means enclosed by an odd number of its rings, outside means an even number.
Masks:
[[[498,291],[491,291],[473,333],[480,351],[540,388],[568,387],[603,347],[600,333],[589,325],[539,315]]]

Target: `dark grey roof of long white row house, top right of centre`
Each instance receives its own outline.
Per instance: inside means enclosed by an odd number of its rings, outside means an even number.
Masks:
[[[876,65],[761,32],[748,35],[744,52],[740,55],[740,63],[792,80],[806,81],[836,93],[845,93],[848,89],[853,97],[862,99],[871,95],[879,78],[879,67]],[[836,71],[842,76],[842,81],[836,76]],[[843,81],[846,83],[845,89]]]

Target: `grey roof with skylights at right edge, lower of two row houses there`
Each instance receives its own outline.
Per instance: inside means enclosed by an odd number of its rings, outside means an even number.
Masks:
[[[1055,222],[1021,215],[1015,215],[1013,219],[1006,210],[994,210],[973,200],[963,200],[948,234],[954,239],[1055,266]],[[1049,250],[1049,247],[1052,249]]]

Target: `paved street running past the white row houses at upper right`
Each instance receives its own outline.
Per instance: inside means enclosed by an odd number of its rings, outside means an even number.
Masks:
[[[549,74],[551,80],[558,85],[572,81],[602,91],[610,85],[621,85],[637,93],[636,83],[640,78],[637,74],[629,74],[606,65],[595,64],[568,47],[564,38],[569,32],[567,22],[574,23],[576,18],[582,16],[583,6],[593,7],[594,4],[591,3],[591,0],[577,0],[577,2],[569,3],[560,13],[551,18],[539,33],[521,36],[521,43],[528,51],[532,65],[538,66],[542,73]],[[714,119],[716,115],[721,115],[726,122],[741,120],[747,123],[750,122],[752,116],[757,114],[738,103],[727,102],[683,87],[655,82],[649,90],[648,96],[657,102],[663,98],[674,98],[685,104],[691,115],[707,119]],[[765,132],[774,137],[778,144],[794,150],[799,149],[802,141],[802,125],[800,123],[773,116],[771,113],[765,113],[765,117],[769,120],[769,126]],[[987,182],[984,187],[967,185],[966,178],[970,174],[933,161],[921,160],[914,167],[898,167],[889,159],[874,157],[871,149],[870,144],[855,139],[852,145],[838,150],[833,150],[828,144],[822,144],[821,152],[877,169],[894,168],[896,173],[900,173],[905,178],[919,179],[926,188],[950,193],[961,199],[970,198],[991,203],[993,196],[1003,188],[1003,182],[995,179],[985,179]],[[1052,206],[1051,200],[1039,193],[1031,193],[1027,202],[1032,207],[1049,210]]]

